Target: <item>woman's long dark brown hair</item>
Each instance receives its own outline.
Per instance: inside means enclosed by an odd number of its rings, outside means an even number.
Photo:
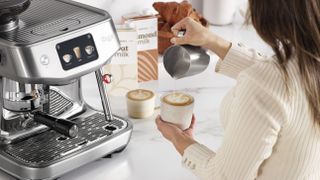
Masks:
[[[275,52],[287,85],[286,65],[298,59],[309,107],[320,125],[320,0],[249,0],[247,18]]]

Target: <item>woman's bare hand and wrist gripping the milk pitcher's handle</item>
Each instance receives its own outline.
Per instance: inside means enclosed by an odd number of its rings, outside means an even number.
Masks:
[[[228,53],[231,43],[212,33],[208,28],[187,17],[172,27],[172,32],[176,37],[171,39],[171,43],[181,45],[190,44],[202,46],[216,53],[220,59],[224,59]],[[179,31],[185,30],[183,37],[177,37]]]

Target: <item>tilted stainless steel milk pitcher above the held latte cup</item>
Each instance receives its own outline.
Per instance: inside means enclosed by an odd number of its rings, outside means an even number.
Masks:
[[[203,72],[209,65],[207,50],[190,45],[169,47],[163,56],[166,71],[175,79],[180,79]]]

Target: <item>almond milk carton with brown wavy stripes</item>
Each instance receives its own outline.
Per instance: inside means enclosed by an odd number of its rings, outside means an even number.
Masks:
[[[158,19],[148,13],[123,16],[124,22],[133,22],[137,28],[139,82],[158,80]]]

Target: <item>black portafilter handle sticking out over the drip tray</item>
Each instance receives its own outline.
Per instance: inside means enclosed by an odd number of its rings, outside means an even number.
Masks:
[[[58,119],[42,112],[36,112],[34,114],[34,121],[44,124],[54,131],[70,138],[76,137],[79,132],[79,128],[75,122],[66,119]]]

